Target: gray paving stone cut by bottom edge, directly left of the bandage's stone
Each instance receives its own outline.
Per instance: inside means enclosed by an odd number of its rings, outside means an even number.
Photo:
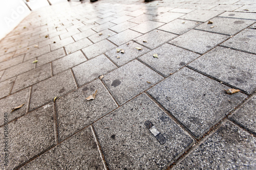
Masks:
[[[90,128],[63,141],[20,169],[104,169]]]

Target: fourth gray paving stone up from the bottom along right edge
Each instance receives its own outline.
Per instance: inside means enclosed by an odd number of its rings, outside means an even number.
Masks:
[[[246,29],[221,45],[256,54],[256,30]]]

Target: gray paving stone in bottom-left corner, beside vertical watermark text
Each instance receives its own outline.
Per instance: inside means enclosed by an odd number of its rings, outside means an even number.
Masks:
[[[9,162],[6,169],[14,169],[55,144],[53,112],[51,103],[8,124]],[[4,127],[0,131],[4,134]],[[1,168],[5,169],[2,161]]]

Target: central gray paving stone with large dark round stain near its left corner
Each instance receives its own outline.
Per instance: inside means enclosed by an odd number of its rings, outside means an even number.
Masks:
[[[102,80],[122,105],[162,79],[157,72],[134,60],[106,74]]]

